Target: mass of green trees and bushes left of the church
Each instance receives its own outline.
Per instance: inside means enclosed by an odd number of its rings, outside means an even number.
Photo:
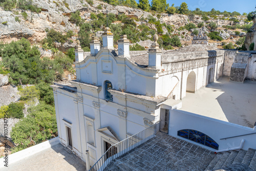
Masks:
[[[65,37],[50,30],[44,45],[49,42],[49,46],[54,48],[53,42],[62,41]],[[31,47],[25,38],[10,44],[0,44],[0,56],[3,59],[0,72],[9,74],[9,82],[18,86],[20,95],[18,102],[0,108],[0,118],[8,112],[9,117],[20,119],[11,132],[11,138],[17,145],[11,149],[12,153],[56,137],[54,98],[50,84],[61,79],[63,70],[73,69],[73,59],[59,51],[55,52],[52,60],[48,57],[40,58],[38,48]],[[35,86],[21,86],[23,84]],[[35,105],[37,99],[39,104]],[[26,117],[25,104],[30,106]]]

